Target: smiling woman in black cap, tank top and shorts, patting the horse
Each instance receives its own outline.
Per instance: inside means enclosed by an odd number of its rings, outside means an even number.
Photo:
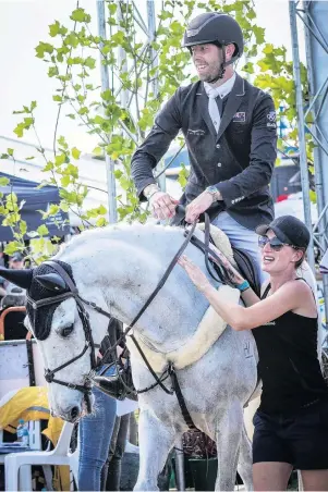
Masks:
[[[262,298],[216,250],[247,307],[222,302],[186,257],[179,263],[232,329],[253,330],[263,381],[254,416],[255,491],[286,490],[293,468],[301,470],[304,490],[328,491],[328,386],[317,355],[317,307],[311,287],[296,275],[309,232],[291,216],[256,232],[262,268],[269,274]]]

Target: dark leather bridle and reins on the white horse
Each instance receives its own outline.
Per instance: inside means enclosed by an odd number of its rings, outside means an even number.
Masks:
[[[108,349],[106,350],[106,354],[108,353],[114,353],[117,346],[125,340],[125,336],[131,332],[131,330],[133,329],[133,327],[136,324],[136,322],[138,321],[138,319],[142,317],[142,315],[146,311],[146,309],[148,308],[148,306],[150,305],[150,303],[154,300],[154,298],[157,296],[157,294],[159,293],[159,291],[162,288],[162,286],[165,285],[166,281],[168,280],[170,273],[172,272],[174,266],[177,265],[178,259],[180,258],[180,256],[183,254],[183,251],[185,250],[186,246],[189,245],[189,243],[192,241],[192,243],[199,247],[202,250],[204,250],[205,253],[205,262],[206,262],[206,267],[208,269],[208,271],[210,272],[211,276],[216,280],[216,281],[220,281],[220,282],[224,282],[228,284],[231,284],[230,279],[229,279],[229,274],[227,272],[227,270],[224,269],[223,265],[221,263],[220,258],[215,254],[215,251],[212,251],[212,249],[209,248],[209,219],[208,216],[205,214],[205,242],[201,242],[199,239],[197,239],[194,236],[194,231],[196,227],[196,222],[193,223],[193,225],[191,226],[190,230],[185,231],[185,239],[182,243],[181,247],[179,248],[178,253],[174,255],[174,257],[172,258],[171,262],[169,263],[167,270],[165,271],[161,280],[159,281],[159,283],[157,284],[157,286],[155,287],[155,290],[153,291],[153,293],[150,294],[150,296],[147,298],[146,303],[144,304],[144,306],[139,309],[139,311],[137,312],[137,315],[135,316],[135,318],[132,320],[132,322],[130,323],[130,325],[123,331],[123,334],[119,337],[119,340]],[[219,262],[219,278],[216,278],[214,275],[214,272],[210,271],[209,268],[209,257],[208,255],[210,254],[210,256],[212,256],[217,262]],[[58,294],[51,297],[47,297],[45,299],[40,299],[40,300],[34,300],[33,298],[31,298],[28,295],[27,297],[27,303],[28,305],[33,308],[33,309],[38,309],[45,306],[51,306],[53,304],[58,304],[58,303],[62,303],[65,299],[69,298],[74,298],[74,300],[76,302],[77,305],[77,311],[78,311],[78,316],[80,319],[82,321],[83,324],[83,330],[84,330],[84,335],[85,335],[85,345],[82,349],[82,352],[76,355],[75,357],[69,359],[66,362],[62,364],[61,366],[58,366],[54,369],[46,369],[45,370],[45,379],[48,383],[57,383],[60,384],[62,386],[66,386],[70,388],[72,390],[77,390],[80,392],[82,392],[84,394],[88,410],[90,409],[90,393],[92,393],[92,380],[89,377],[87,377],[85,379],[84,384],[74,384],[74,383],[70,383],[68,381],[62,381],[60,379],[57,379],[54,377],[54,374],[57,372],[59,372],[60,370],[64,369],[65,367],[72,365],[73,362],[75,362],[76,360],[78,360],[81,357],[84,356],[84,354],[90,349],[90,366],[92,366],[92,370],[95,370],[97,368],[97,364],[96,364],[96,357],[95,357],[95,343],[94,343],[94,339],[93,339],[93,333],[92,333],[92,328],[90,328],[90,322],[89,322],[89,315],[85,309],[85,306],[92,308],[93,310],[99,312],[102,316],[106,316],[107,318],[112,319],[112,316],[104,310],[102,308],[100,308],[99,306],[97,306],[95,303],[88,302],[86,299],[84,299],[78,290],[74,283],[74,281],[71,279],[71,276],[69,275],[69,273],[64,270],[64,268],[59,265],[58,261],[56,260],[49,260],[49,261],[45,261],[42,265],[47,265],[49,267],[51,267],[60,276],[61,279],[65,282],[66,286],[69,287],[69,292],[62,293],[62,294]],[[216,263],[216,267],[218,267],[218,265]],[[142,358],[144,359],[147,368],[149,369],[151,376],[155,379],[155,384],[145,388],[143,390],[138,390],[136,391],[136,393],[145,393],[151,389],[154,389],[155,386],[159,385],[166,393],[168,394],[173,394],[174,391],[177,392],[177,388],[174,388],[173,390],[169,390],[163,381],[168,378],[168,376],[173,373],[173,368],[169,366],[169,368],[167,370],[165,370],[165,372],[158,377],[156,374],[156,372],[154,371],[154,369],[151,368],[150,364],[148,362],[147,358],[145,357],[142,348],[139,347],[136,339],[133,336],[133,334],[130,335],[131,339],[133,340],[136,348],[138,349]],[[173,385],[174,386],[174,385]],[[133,390],[129,389],[131,392],[133,392]]]

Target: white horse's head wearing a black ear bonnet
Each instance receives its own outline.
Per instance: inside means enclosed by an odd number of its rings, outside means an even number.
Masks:
[[[54,415],[74,421],[92,409],[89,376],[95,367],[90,322],[106,319],[94,310],[92,320],[77,293],[71,267],[56,261],[33,270],[4,270],[0,274],[27,291],[26,327],[38,342],[49,403]],[[96,325],[97,325],[96,324]]]

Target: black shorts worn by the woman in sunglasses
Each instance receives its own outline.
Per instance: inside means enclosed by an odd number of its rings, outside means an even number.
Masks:
[[[297,470],[328,469],[328,401],[291,416],[257,410],[253,423],[253,463],[290,463]]]

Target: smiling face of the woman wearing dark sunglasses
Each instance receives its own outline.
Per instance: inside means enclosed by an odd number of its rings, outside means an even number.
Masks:
[[[266,235],[269,239],[276,237],[274,231],[268,231]],[[267,243],[260,249],[260,254],[263,271],[277,274],[287,270],[294,270],[295,262],[302,258],[303,251],[288,245],[282,246],[279,251],[275,251],[270,244]]]

